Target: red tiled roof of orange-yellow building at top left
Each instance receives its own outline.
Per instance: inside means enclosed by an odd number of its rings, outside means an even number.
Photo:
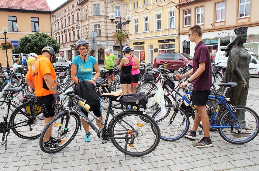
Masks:
[[[0,8],[51,11],[46,0],[1,0]]]

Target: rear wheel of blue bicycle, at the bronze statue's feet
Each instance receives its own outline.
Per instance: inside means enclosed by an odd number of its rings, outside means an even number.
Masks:
[[[229,127],[219,128],[218,131],[220,136],[232,144],[244,144],[253,140],[259,132],[259,117],[257,113],[246,106],[234,106],[233,108],[235,110],[233,114],[238,121],[233,120],[229,110],[225,110],[219,117],[218,126]],[[238,118],[237,116],[244,116],[244,118]],[[233,126],[238,126],[237,122],[241,127],[233,128],[233,131],[231,131],[231,124],[233,124]]]

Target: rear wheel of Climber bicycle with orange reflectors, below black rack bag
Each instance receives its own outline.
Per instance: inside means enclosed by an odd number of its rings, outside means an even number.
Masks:
[[[112,144],[121,152],[131,156],[142,156],[152,152],[160,142],[160,130],[157,123],[142,112],[125,111],[116,115],[119,122],[112,119],[109,135]],[[129,128],[133,136],[127,133]],[[129,138],[127,145],[124,137]],[[125,150],[125,145],[127,150]]]

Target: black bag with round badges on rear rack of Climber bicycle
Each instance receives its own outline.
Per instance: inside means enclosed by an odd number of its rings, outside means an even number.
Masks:
[[[121,96],[119,103],[123,109],[140,110],[143,108],[145,110],[148,106],[148,99],[145,92],[137,92]]]

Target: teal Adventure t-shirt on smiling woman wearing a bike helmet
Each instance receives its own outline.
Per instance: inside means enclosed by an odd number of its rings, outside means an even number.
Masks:
[[[97,63],[97,60],[95,57],[88,55],[88,60],[84,62],[78,55],[78,56],[74,57],[74,59],[72,60],[71,63],[77,66],[76,77],[80,81],[83,81],[82,78],[84,80],[88,81],[94,77],[93,76],[93,65],[95,65]]]

